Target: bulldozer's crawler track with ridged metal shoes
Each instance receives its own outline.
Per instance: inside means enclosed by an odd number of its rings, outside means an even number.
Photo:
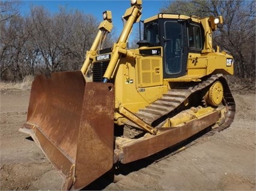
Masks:
[[[164,94],[162,98],[157,99],[157,101],[148,105],[144,109],[139,110],[137,113],[135,113],[135,115],[149,125],[156,127],[164,120],[168,119],[168,117],[172,117],[179,111],[183,110],[185,105],[184,102],[187,100],[189,102],[193,101],[196,94],[201,95],[201,92],[207,89],[207,87],[210,87],[216,80],[221,81],[222,85],[224,86],[224,105],[227,107],[225,122],[219,126],[219,128],[216,128],[217,131],[221,131],[222,129],[230,126],[230,124],[233,122],[236,110],[234,98],[230,92],[227,81],[222,74],[210,75],[209,78],[195,84],[194,86],[183,86],[171,89],[169,92]],[[198,99],[198,101],[200,100]],[[138,128],[138,126],[130,121],[127,121],[126,125]]]

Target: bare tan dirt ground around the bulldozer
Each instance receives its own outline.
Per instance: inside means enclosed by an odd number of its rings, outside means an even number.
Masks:
[[[61,180],[28,135],[29,90],[1,90],[1,190],[59,190]],[[104,177],[87,190],[255,190],[255,94],[233,91],[232,125],[174,149],[120,166],[115,181]]]

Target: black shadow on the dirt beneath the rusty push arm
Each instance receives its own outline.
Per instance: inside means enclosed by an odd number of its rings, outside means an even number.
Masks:
[[[118,177],[118,175],[128,175],[131,172],[138,171],[139,169],[142,168],[146,168],[152,163],[157,163],[160,160],[170,157],[186,149],[187,147],[190,147],[191,145],[197,143],[197,139],[203,138],[203,135],[210,133],[211,129],[211,127],[206,128],[203,131],[198,132],[198,134],[195,134],[194,136],[188,138],[187,140],[184,140],[181,143],[173,145],[172,147],[165,148],[165,150],[159,151],[158,153],[148,156],[144,159],[136,160],[135,162],[130,162],[127,164],[115,164],[110,171],[106,172],[101,177],[97,178],[95,181],[93,181],[91,184],[89,184],[88,186],[84,187],[81,190],[103,190],[109,184],[117,183],[119,181],[119,178],[115,177]]]

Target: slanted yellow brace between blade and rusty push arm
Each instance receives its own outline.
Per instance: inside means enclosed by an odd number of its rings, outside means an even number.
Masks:
[[[135,116],[131,111],[127,110],[127,108],[121,107],[119,109],[119,113],[126,117],[126,119],[129,119],[131,122],[138,125],[140,128],[144,129],[145,131],[149,132],[152,135],[157,134],[157,129],[153,128],[152,126],[145,123],[143,120],[141,120],[139,117]]]

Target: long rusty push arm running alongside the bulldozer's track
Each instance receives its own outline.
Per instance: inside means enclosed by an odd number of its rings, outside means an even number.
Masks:
[[[123,148],[121,163],[129,163],[142,159],[167,147],[180,143],[210,125],[213,125],[218,119],[219,112],[215,111],[206,117],[188,122],[184,126],[162,131],[157,135],[150,135],[135,141],[128,141],[127,143],[120,144],[118,147]]]

